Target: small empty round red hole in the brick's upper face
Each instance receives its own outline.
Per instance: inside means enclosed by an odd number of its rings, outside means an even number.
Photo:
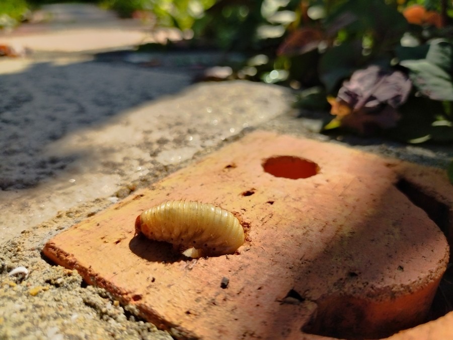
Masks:
[[[263,162],[263,169],[275,177],[308,178],[319,173],[318,164],[296,156],[274,156]]]

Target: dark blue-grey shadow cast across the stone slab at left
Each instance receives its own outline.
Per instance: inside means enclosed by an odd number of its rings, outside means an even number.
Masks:
[[[46,156],[48,144],[190,83],[184,74],[92,61],[35,63],[0,80],[3,190],[33,187],[78,158]]]

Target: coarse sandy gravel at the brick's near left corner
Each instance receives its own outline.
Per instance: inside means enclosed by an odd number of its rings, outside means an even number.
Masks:
[[[0,252],[0,338],[8,339],[169,339],[168,332],[145,322],[106,291],[87,286],[75,270],[48,263],[44,241],[82,219],[80,207],[6,242]],[[8,273],[25,266],[28,277]]]

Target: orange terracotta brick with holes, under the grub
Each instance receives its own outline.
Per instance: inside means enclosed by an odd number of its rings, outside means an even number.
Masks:
[[[442,171],[258,131],[62,232],[44,254],[177,337],[384,337],[424,322],[448,261],[445,236],[397,184],[451,214]],[[134,237],[135,218],[168,199],[234,213],[245,244],[195,260]]]

